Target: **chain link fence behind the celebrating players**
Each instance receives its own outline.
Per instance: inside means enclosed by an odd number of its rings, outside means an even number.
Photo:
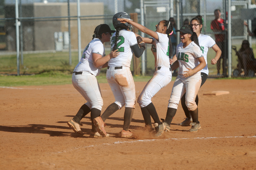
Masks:
[[[215,40],[210,24],[214,20],[214,10],[219,9],[221,18],[228,23],[227,0],[81,0],[80,1],[80,33],[78,32],[78,6],[72,0],[18,0],[18,22],[16,22],[15,0],[0,0],[0,73],[1,74],[40,74],[49,71],[72,72],[79,58],[78,36],[81,38],[81,48],[92,40],[94,29],[99,24],[112,25],[112,16],[116,12],[125,11],[131,18],[151,30],[161,20],[176,21],[176,30],[197,15],[204,18],[202,34],[207,34]],[[256,48],[254,37],[248,36],[244,22],[249,24],[249,30],[254,30],[254,9],[248,9],[248,1],[231,2],[232,24],[232,76],[254,76],[255,60],[248,57],[248,51],[241,51],[243,40],[248,40],[252,50]],[[142,11],[142,13],[141,13]],[[16,23],[18,23],[19,54],[17,55]],[[252,27],[250,27],[252,26]],[[138,34],[143,35],[141,32]],[[227,37],[227,31],[221,32]],[[147,37],[147,35],[144,35]],[[179,43],[179,37],[176,39]],[[227,39],[222,50],[225,58],[228,56]],[[106,54],[110,43],[105,43]],[[152,75],[154,72],[154,56],[148,44],[144,57],[132,60],[131,70],[134,75]],[[236,48],[236,50],[235,50]],[[236,52],[237,51],[237,52]],[[250,50],[249,50],[250,51]],[[253,53],[252,53],[253,54]],[[17,60],[17,56],[19,57]],[[209,76],[219,77],[217,67],[210,64],[215,52],[208,51]],[[144,60],[145,62],[142,62]],[[222,62],[222,60],[221,60]],[[228,61],[225,62],[227,71]],[[20,68],[18,69],[18,64]],[[145,63],[144,66],[142,64]],[[247,63],[247,64],[245,64]],[[145,70],[143,70],[143,68]],[[221,67],[221,74],[223,73]],[[19,72],[17,72],[17,70]],[[104,72],[104,69],[102,70]]]

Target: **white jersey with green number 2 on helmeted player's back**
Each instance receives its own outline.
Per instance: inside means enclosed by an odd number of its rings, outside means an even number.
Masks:
[[[116,32],[112,35],[111,38],[111,50],[114,48]],[[136,36],[133,32],[127,31],[125,29],[120,30],[119,37],[117,41],[117,48],[120,52],[118,57],[111,58],[108,61],[108,66],[117,67],[117,66],[126,66],[130,67],[132,60],[132,49],[131,46],[137,44]]]

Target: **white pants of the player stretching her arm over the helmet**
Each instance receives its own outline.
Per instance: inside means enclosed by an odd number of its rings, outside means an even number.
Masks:
[[[159,67],[158,67],[159,68]],[[161,89],[167,86],[172,80],[172,72],[168,67],[161,67],[160,70],[154,72],[154,76],[148,81],[140,96],[138,104],[140,107],[146,107],[152,101],[152,97]]]

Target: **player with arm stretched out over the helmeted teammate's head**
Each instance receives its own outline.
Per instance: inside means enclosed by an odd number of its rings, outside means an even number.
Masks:
[[[152,103],[152,97],[163,87],[167,86],[172,80],[172,72],[170,70],[169,58],[172,56],[172,43],[170,35],[173,32],[172,24],[168,20],[162,20],[156,25],[156,32],[124,18],[118,19],[120,22],[132,24],[140,31],[152,36],[153,38],[142,38],[143,42],[152,44],[152,52],[155,57],[155,72],[154,76],[148,81],[140,96],[138,103],[140,105],[146,127],[152,129],[151,117],[154,120],[156,127],[155,136],[161,136],[164,132],[165,125],[160,121],[156,108]]]

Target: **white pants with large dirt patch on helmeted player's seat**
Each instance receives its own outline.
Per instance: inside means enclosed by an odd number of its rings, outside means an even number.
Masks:
[[[117,68],[117,67],[116,67]],[[129,67],[109,67],[106,73],[108,84],[114,94],[115,103],[122,107],[135,108],[135,84]]]

